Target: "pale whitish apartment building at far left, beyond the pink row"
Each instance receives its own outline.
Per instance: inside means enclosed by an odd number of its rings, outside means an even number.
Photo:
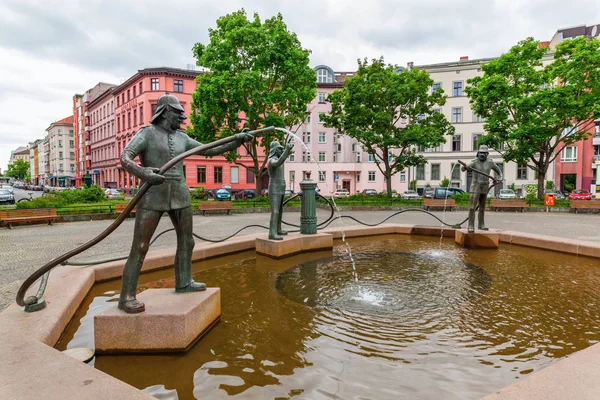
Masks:
[[[48,184],[51,186],[75,186],[75,133],[73,116],[58,120],[46,129],[48,151],[46,161]],[[45,139],[45,140],[46,140]]]

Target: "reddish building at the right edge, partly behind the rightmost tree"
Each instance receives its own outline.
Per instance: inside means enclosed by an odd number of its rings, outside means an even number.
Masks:
[[[573,189],[586,189],[600,195],[600,120],[590,121],[581,129],[589,132],[590,139],[580,140],[565,147],[556,157],[555,186],[565,190],[571,182]]]

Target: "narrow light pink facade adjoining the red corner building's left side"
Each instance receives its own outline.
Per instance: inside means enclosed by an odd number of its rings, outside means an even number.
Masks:
[[[117,187],[117,149],[115,141],[115,98],[113,88],[106,90],[87,106],[89,114],[89,173],[96,185]],[[88,171],[85,171],[88,172]]]

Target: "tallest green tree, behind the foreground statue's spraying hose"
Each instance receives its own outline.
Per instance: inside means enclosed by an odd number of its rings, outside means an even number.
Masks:
[[[291,129],[305,119],[307,104],[316,96],[316,76],[309,66],[310,51],[302,48],[296,34],[288,31],[281,14],[261,22],[249,20],[242,9],[217,20],[209,30],[209,43],[196,43],[196,63],[208,69],[198,77],[193,94],[192,126],[188,132],[202,142],[264,126]],[[239,162],[242,155],[226,155],[229,162],[251,171],[256,192],[267,174],[266,157],[276,132],[246,144],[252,166]]]

